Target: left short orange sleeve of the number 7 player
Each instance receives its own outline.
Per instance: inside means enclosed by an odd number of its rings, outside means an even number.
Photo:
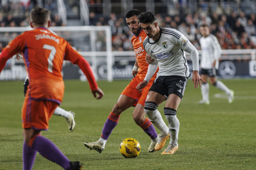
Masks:
[[[20,34],[19,36],[14,38],[14,40],[12,40],[6,47],[4,47],[2,51],[7,51],[9,55],[14,56],[20,51],[23,52],[25,49],[25,46],[26,44],[25,44],[24,35]]]

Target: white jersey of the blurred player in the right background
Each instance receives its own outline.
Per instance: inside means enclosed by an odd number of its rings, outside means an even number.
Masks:
[[[216,60],[215,68],[219,68],[219,59],[221,56],[221,46],[218,39],[213,35],[209,34],[207,37],[200,38],[200,46],[202,49],[201,63],[200,66],[203,69],[213,68],[213,62]]]

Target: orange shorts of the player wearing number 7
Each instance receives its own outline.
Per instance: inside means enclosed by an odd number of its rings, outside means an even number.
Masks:
[[[49,127],[48,121],[58,105],[57,102],[48,100],[32,100],[27,94],[22,107],[23,129],[33,128],[35,130],[47,131]]]

